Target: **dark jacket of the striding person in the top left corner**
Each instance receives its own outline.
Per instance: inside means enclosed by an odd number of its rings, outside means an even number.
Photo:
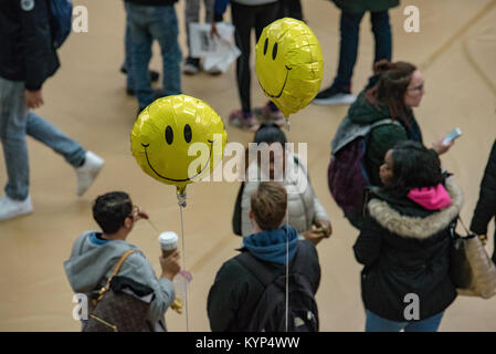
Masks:
[[[38,91],[60,66],[46,0],[0,1],[0,76]]]

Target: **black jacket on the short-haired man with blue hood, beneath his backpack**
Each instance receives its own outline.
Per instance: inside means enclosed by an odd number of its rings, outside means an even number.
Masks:
[[[314,290],[317,292],[320,283],[320,266],[315,246],[309,241],[299,241],[299,247],[305,243],[309,250],[308,268],[305,273]],[[246,251],[247,252],[247,251]],[[283,272],[285,266],[268,263],[274,268],[274,273]],[[262,283],[235,258],[231,258],[215,275],[215,281],[210,289],[207,301],[207,310],[212,332],[244,332],[252,319],[258,299],[262,296]]]

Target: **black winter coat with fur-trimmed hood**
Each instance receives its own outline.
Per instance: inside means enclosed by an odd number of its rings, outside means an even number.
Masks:
[[[405,198],[376,194],[353,246],[355,257],[365,264],[361,295],[365,308],[374,314],[405,322],[409,293],[419,296],[420,319],[444,311],[456,298],[448,278],[450,225],[462,207],[462,192],[446,180],[450,207],[430,211]]]

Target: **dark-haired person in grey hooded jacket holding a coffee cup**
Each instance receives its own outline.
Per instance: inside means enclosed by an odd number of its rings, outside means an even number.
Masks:
[[[135,222],[148,219],[123,191],[99,196],[93,205],[93,217],[103,232],[85,231],[74,242],[65,273],[75,293],[94,293],[103,288],[115,264],[128,250],[137,250],[124,262],[119,275],[154,290],[155,298],[144,331],[167,331],[165,313],[175,300],[173,277],[179,272],[179,252],[160,256],[161,274],[157,278],[150,262],[134,244],[126,241]],[[88,302],[91,304],[91,302]]]

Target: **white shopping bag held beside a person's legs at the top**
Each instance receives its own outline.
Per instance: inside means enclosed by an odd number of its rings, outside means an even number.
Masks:
[[[192,58],[203,58],[203,69],[225,72],[233,61],[241,55],[234,44],[234,27],[218,23],[218,35],[210,34],[210,23],[190,23],[190,50]]]

